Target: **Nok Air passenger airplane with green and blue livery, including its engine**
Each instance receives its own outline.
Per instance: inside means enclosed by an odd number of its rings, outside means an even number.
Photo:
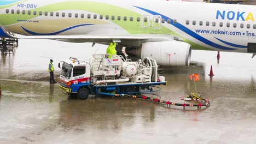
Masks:
[[[255,8],[162,0],[5,0],[0,1],[0,37],[92,46],[113,41],[118,53],[126,47],[128,55],[183,66],[190,63],[191,49],[255,56]]]

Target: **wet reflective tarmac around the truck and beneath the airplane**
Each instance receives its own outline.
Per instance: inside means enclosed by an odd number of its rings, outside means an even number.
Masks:
[[[161,67],[168,86],[163,100],[194,91],[190,74],[200,74],[197,93],[207,109],[167,108],[153,101],[94,97],[68,99],[49,84],[48,63],[89,59],[107,46],[20,40],[15,55],[0,56],[0,143],[255,143],[256,58],[247,53],[193,51],[189,67]],[[208,76],[213,66],[212,79]]]

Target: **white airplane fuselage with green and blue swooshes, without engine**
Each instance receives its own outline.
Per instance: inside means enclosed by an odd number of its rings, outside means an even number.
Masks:
[[[256,38],[255,8],[146,0],[0,1],[0,24],[24,35],[168,34],[194,49],[247,52]]]

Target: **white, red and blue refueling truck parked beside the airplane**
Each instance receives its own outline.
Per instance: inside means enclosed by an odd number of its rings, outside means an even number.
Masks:
[[[59,85],[71,97],[87,99],[89,94],[118,96],[154,92],[156,85],[167,85],[159,76],[156,61],[144,57],[133,62],[123,56],[93,55],[90,62],[70,57],[59,63]]]

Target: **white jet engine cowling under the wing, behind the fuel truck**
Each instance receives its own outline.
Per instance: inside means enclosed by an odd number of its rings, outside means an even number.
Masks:
[[[175,40],[147,42],[139,48],[126,47],[125,51],[138,58],[151,57],[158,65],[166,66],[188,66],[191,58],[191,45]]]

